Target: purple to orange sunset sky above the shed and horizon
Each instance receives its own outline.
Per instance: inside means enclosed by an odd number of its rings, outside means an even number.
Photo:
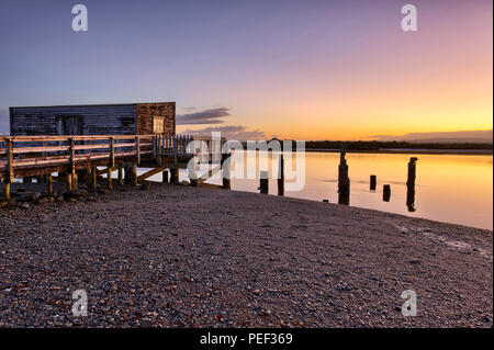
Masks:
[[[76,3],[88,32],[71,29]],[[401,29],[405,3],[417,32]],[[177,102],[178,132],[238,138],[492,129],[492,0],[1,1],[0,131],[11,105],[151,101]]]

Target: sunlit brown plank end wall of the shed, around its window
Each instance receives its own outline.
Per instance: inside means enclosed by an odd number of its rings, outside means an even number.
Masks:
[[[165,134],[175,135],[175,102],[137,103],[137,129],[138,135],[153,134],[153,118],[155,116],[165,120]]]

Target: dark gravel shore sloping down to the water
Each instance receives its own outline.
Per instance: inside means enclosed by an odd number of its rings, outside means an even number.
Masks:
[[[0,210],[1,327],[492,327],[493,233],[210,188]],[[88,316],[71,313],[85,290]],[[404,317],[405,290],[417,315]]]

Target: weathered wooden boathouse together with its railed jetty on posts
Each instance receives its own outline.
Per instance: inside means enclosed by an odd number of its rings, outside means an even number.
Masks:
[[[96,191],[102,173],[106,173],[111,189],[114,171],[120,183],[137,185],[169,170],[169,182],[178,183],[179,169],[187,168],[199,154],[190,145],[194,140],[206,143],[210,154],[205,156],[212,162],[213,140],[176,135],[175,118],[175,102],[10,108],[11,135],[0,137],[4,197],[10,199],[10,183],[15,178],[36,177],[46,181],[47,192],[53,192],[54,173],[66,182],[68,191],[77,190],[79,180],[89,181]],[[220,140],[220,149],[224,142]],[[226,156],[220,151],[220,166],[191,179],[191,184],[198,185],[222,171],[223,188],[228,189]],[[138,176],[138,166],[151,170]]]

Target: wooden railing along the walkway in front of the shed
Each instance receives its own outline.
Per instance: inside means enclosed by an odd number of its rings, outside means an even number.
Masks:
[[[202,140],[211,150],[212,138],[191,135],[75,135],[75,136],[0,136],[0,171],[7,177],[14,169],[65,166],[86,161],[157,156],[192,157],[192,140]],[[224,139],[222,138],[222,142]],[[74,168],[72,168],[74,169]]]

